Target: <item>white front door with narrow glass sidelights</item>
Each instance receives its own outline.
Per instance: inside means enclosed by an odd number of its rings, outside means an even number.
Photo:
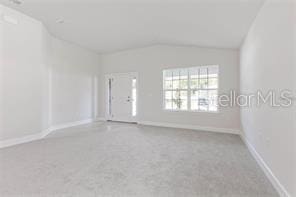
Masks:
[[[107,76],[108,120],[136,122],[136,81],[135,73]]]

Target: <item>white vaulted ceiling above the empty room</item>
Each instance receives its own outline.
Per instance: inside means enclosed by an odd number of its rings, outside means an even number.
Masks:
[[[264,0],[20,1],[0,3],[41,20],[60,39],[104,53],[153,44],[238,48]]]

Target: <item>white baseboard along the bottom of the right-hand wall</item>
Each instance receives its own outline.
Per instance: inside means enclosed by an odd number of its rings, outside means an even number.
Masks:
[[[256,151],[254,146],[243,135],[241,135],[241,139],[244,141],[252,156],[254,157],[260,168],[263,170],[263,172],[265,173],[273,187],[277,190],[279,195],[281,197],[291,197],[289,192],[285,189],[285,187],[281,184],[278,178],[274,175],[272,170],[269,168],[269,166],[266,164],[266,162],[263,160],[260,154]]]

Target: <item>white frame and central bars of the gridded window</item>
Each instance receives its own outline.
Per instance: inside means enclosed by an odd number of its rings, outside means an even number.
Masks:
[[[197,88],[197,89],[191,89],[190,87],[190,73],[189,73],[189,70],[190,69],[201,69],[201,68],[209,68],[211,66],[217,66],[218,67],[218,73],[217,73],[217,88],[214,88],[214,89],[210,89],[210,88],[207,88],[207,89],[204,89],[206,91],[209,91],[209,90],[217,90],[217,110],[216,111],[210,111],[209,109],[207,110],[191,110],[191,90],[202,90],[200,88]],[[165,77],[164,77],[164,72],[165,71],[169,71],[169,70],[188,70],[188,82],[187,82],[187,89],[179,89],[179,90],[183,90],[183,91],[187,91],[187,109],[186,110],[182,110],[182,109],[166,109],[166,98],[165,98],[165,92],[166,91],[174,91],[174,89],[166,89],[165,88]],[[207,80],[209,79],[209,75],[207,74]],[[164,70],[162,70],[162,109],[166,112],[192,112],[192,113],[220,113],[220,107],[219,107],[219,104],[218,104],[218,97],[219,97],[219,94],[220,94],[220,66],[219,65],[204,65],[204,66],[194,66],[194,67],[177,67],[177,68],[172,68],[172,67],[169,67],[169,68],[166,68]]]

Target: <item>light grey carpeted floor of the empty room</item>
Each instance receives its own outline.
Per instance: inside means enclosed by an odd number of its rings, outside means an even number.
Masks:
[[[93,123],[0,150],[0,196],[277,196],[239,136]]]

